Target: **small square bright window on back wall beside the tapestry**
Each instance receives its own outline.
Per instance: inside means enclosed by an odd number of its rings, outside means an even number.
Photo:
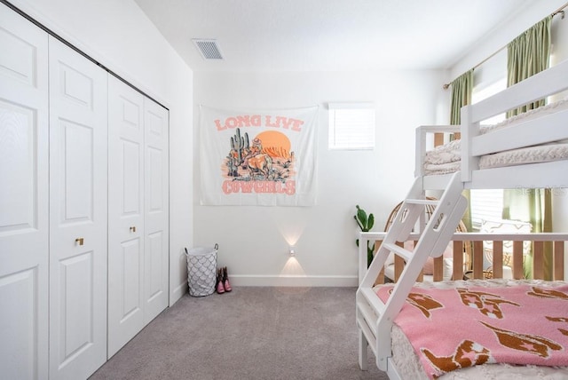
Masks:
[[[375,105],[329,103],[329,149],[374,149]]]

